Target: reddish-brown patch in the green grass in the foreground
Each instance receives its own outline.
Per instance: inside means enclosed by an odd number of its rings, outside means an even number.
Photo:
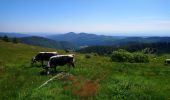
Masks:
[[[76,96],[89,97],[99,92],[99,84],[96,81],[75,76],[69,76],[66,81],[71,81],[71,84],[66,85],[64,89],[71,90],[72,94]]]

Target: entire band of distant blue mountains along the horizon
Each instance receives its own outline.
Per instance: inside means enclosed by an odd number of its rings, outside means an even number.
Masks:
[[[4,36],[4,32],[0,32],[0,36]],[[159,36],[152,36],[152,37],[125,37],[125,36],[105,36],[105,35],[96,35],[96,34],[89,34],[89,33],[74,33],[69,32],[65,34],[48,34],[48,33],[39,33],[39,34],[20,34],[20,33],[6,33],[6,35],[10,37],[30,37],[30,36],[38,36],[49,39],[50,45],[55,45],[59,48],[75,48],[80,49],[88,46],[123,46],[128,45],[129,43],[155,43],[155,42],[170,42],[170,37],[159,37]],[[32,40],[32,39],[31,39]],[[30,41],[31,41],[30,40]],[[39,43],[42,42],[41,45],[44,45],[44,41],[46,40],[34,40]],[[56,43],[57,42],[57,43]],[[60,42],[60,43],[59,43]],[[30,43],[30,42],[29,42]],[[31,42],[33,43],[33,42]],[[47,43],[47,42],[46,42]],[[34,43],[35,44],[35,43]],[[47,43],[49,44],[49,43]],[[59,45],[60,44],[60,45]],[[46,45],[48,46],[48,45]],[[48,46],[49,47],[49,46]],[[53,47],[53,46],[52,46]]]

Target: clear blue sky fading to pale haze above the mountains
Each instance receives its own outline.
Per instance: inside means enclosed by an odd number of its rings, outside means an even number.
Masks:
[[[0,0],[0,32],[170,36],[170,0]]]

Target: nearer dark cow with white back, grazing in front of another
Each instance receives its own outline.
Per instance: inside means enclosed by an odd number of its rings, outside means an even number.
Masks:
[[[48,61],[48,65],[46,67],[47,74],[49,74],[49,68],[54,68],[54,71],[56,72],[56,66],[64,66],[64,65],[74,66],[74,54],[66,54],[66,55],[56,55],[52,56],[50,60]]]

